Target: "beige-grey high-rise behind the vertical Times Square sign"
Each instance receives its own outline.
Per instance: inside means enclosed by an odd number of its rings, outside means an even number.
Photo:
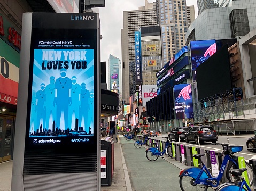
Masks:
[[[138,10],[123,12],[123,29],[121,29],[122,43],[122,99],[126,103],[133,92],[130,92],[130,71],[129,64],[135,63],[135,31],[141,27],[157,25],[156,3],[149,3],[145,0],[145,6]],[[136,90],[138,91],[136,85]]]

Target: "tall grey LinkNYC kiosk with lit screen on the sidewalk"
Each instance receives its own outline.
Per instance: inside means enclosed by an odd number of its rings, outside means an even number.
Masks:
[[[97,13],[24,13],[12,191],[100,190],[99,40]]]

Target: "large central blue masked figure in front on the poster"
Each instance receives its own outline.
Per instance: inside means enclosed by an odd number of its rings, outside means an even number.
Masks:
[[[71,97],[70,97],[70,90],[71,90],[71,79],[66,77],[67,70],[65,68],[60,70],[60,77],[55,81],[55,89],[56,89],[56,96],[53,101],[53,106],[57,106],[56,108],[56,127],[60,128],[60,117],[61,112],[64,113],[64,128],[67,130],[68,127],[68,107],[71,105]]]

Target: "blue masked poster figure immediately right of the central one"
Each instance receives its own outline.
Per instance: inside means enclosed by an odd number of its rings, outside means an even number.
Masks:
[[[77,84],[76,77],[73,76],[72,77],[72,86],[71,86],[72,104],[69,106],[69,112],[68,112],[68,116],[69,116],[68,117],[68,127],[69,127],[69,129],[72,129],[71,125],[72,125],[73,112],[75,113],[75,119],[79,118],[79,95],[80,95],[80,93],[81,93],[81,86],[79,84]],[[73,120],[73,122],[75,123],[75,120]]]

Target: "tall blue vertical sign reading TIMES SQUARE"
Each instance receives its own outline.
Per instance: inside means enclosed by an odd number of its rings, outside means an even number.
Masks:
[[[135,64],[136,82],[142,82],[142,63],[141,63],[141,32],[135,31]]]

